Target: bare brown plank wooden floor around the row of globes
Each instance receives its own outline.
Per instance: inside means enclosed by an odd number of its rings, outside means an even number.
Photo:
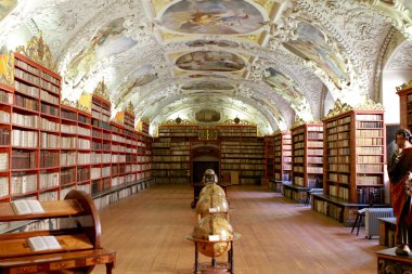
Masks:
[[[117,251],[116,274],[189,274],[196,217],[189,185],[155,185],[100,211],[103,246]],[[377,239],[263,186],[229,190],[237,274],[376,273]],[[208,262],[206,257],[201,258]],[[93,274],[105,273],[98,266]]]

